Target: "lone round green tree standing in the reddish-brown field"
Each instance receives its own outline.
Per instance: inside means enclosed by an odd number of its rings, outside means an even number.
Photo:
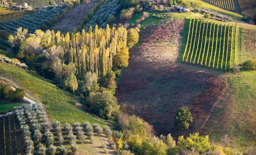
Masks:
[[[177,129],[188,129],[188,121],[193,122],[193,118],[189,112],[189,108],[183,106],[175,112],[175,126]]]

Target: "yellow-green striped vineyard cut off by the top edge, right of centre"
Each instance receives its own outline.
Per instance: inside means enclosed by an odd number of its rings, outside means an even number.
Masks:
[[[220,8],[226,9],[228,11],[236,11],[233,0],[204,0],[207,3],[213,4]]]

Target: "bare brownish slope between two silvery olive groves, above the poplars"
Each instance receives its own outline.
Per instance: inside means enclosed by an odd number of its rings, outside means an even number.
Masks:
[[[72,32],[74,28],[81,24],[81,20],[88,14],[90,9],[95,6],[96,3],[82,3],[71,11],[68,11],[64,14],[64,17],[58,21],[52,29],[55,31],[60,31],[61,33],[66,34],[67,32]]]

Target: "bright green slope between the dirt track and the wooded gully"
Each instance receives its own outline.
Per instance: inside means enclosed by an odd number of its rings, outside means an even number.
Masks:
[[[47,109],[53,121],[61,121],[62,123],[89,121],[90,123],[99,123],[101,126],[105,124],[77,109],[74,106],[75,99],[73,95],[59,89],[43,78],[39,78],[35,73],[26,72],[6,63],[0,63],[0,75],[14,78],[32,94],[38,95],[42,100],[48,100]]]

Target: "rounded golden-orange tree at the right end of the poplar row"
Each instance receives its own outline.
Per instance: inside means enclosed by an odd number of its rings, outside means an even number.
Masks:
[[[127,47],[123,47],[120,51],[114,56],[113,66],[117,69],[125,68],[128,66],[129,59],[129,49]]]

